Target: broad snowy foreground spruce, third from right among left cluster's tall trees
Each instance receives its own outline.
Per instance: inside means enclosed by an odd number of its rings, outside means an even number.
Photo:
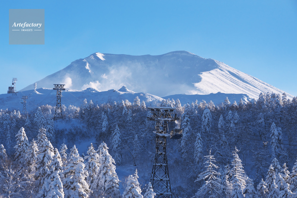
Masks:
[[[83,158],[79,156],[75,145],[70,149],[68,165],[64,171],[64,193],[65,198],[83,197],[88,198],[91,190],[86,182]]]

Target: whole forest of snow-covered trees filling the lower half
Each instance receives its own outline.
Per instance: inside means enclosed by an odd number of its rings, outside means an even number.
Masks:
[[[155,105],[176,107],[184,131],[167,142],[173,197],[297,197],[296,97]],[[154,122],[145,102],[85,99],[63,106],[57,121],[54,110],[0,111],[0,197],[154,197]],[[75,145],[89,140],[80,155]],[[137,170],[119,181],[116,166]],[[147,176],[139,180],[140,172]]]

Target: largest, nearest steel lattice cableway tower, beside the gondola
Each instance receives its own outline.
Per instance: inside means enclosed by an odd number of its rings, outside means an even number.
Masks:
[[[166,157],[166,137],[167,122],[174,121],[176,114],[173,113],[176,108],[170,107],[148,107],[151,110],[151,116],[148,120],[156,121],[156,154],[153,170],[151,172],[151,185],[156,193],[155,198],[172,198],[169,172]]]

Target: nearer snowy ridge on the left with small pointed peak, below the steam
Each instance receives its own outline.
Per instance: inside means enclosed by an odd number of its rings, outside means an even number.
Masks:
[[[12,96],[12,94],[0,94],[0,109],[15,109],[22,111],[22,96],[28,96],[26,101],[27,111],[34,110],[38,106],[46,104],[56,106],[56,90],[39,88],[35,91],[21,91],[17,94],[17,96]],[[129,100],[129,102],[133,102],[136,96],[139,97],[140,101],[146,102],[146,105],[154,105],[155,103],[159,104],[160,101],[163,100],[162,98],[151,94],[130,91],[123,86],[119,90],[111,89],[108,91],[98,91],[94,88],[87,88],[83,91],[66,89],[65,91],[62,91],[61,104],[64,104],[66,107],[69,105],[80,107],[84,99],[87,99],[88,102],[92,100],[95,105],[109,102],[113,103],[114,101],[121,102],[126,99]]]

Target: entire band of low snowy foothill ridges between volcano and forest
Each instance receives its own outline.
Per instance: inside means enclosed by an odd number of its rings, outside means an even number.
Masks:
[[[22,96],[28,96],[26,102],[27,111],[34,110],[35,108],[46,104],[56,106],[56,90],[49,88],[39,88],[37,90],[18,92],[17,96],[12,96],[12,94],[0,94],[0,109],[20,110],[20,112],[22,112]],[[92,100],[95,105],[103,103],[113,103],[114,101],[121,102],[122,100],[126,99],[129,100],[129,102],[133,103],[133,100],[136,98],[136,96],[139,97],[140,102],[144,101],[146,103],[146,106],[159,106],[162,100],[168,98],[170,100],[179,99],[182,105],[188,102],[195,102],[195,100],[198,100],[198,102],[201,102],[202,100],[209,102],[212,100],[214,104],[220,104],[221,102],[224,102],[226,97],[229,98],[229,101],[231,103],[233,103],[234,100],[236,100],[236,102],[238,103],[241,98],[244,100],[244,102],[251,100],[251,98],[249,98],[245,94],[223,93],[207,95],[176,94],[160,98],[159,96],[154,96],[152,94],[136,93],[129,90],[127,87],[122,86],[119,90],[110,89],[108,91],[98,91],[94,88],[87,88],[83,91],[66,89],[65,91],[62,91],[61,104],[65,105],[66,107],[68,107],[69,105],[80,107],[84,99],[87,99],[88,102]]]

